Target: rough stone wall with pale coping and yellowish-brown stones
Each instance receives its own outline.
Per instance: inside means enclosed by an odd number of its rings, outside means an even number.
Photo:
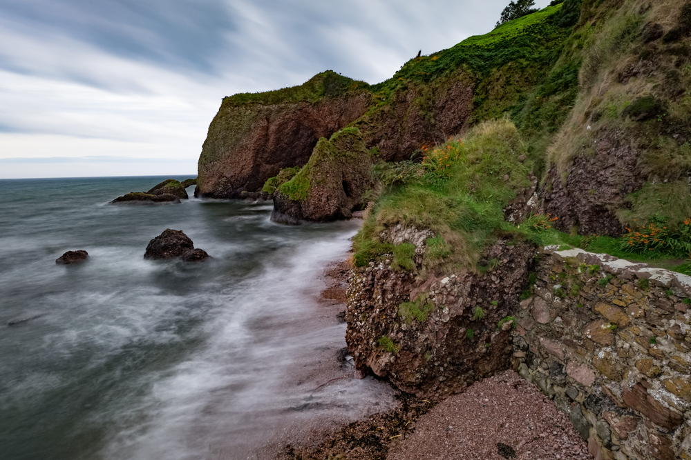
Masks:
[[[513,368],[569,414],[595,459],[690,460],[691,277],[578,249],[538,260]]]

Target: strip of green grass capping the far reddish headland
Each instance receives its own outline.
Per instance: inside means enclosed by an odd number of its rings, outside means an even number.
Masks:
[[[369,88],[369,85],[364,81],[356,81],[343,77],[343,75],[333,70],[327,70],[314,75],[314,77],[299,86],[265,92],[243,92],[224,97],[223,105],[244,106],[249,103],[270,105],[302,101],[316,103],[325,97],[337,97],[348,91],[366,90],[367,88]]]

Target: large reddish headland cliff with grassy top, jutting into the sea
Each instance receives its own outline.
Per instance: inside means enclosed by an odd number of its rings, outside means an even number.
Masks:
[[[299,87],[225,98],[199,157],[198,194],[239,198],[283,168],[304,166],[321,137],[365,112],[365,86],[328,71]]]

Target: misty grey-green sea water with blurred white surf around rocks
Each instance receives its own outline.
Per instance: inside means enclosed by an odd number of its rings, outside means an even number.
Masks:
[[[3,459],[261,458],[301,423],[392,404],[370,379],[314,392],[345,346],[317,278],[357,221],[279,226],[271,203],[193,197],[108,204],[162,179],[0,181]],[[166,228],[214,259],[144,260]],[[78,249],[86,263],[55,264]]]

